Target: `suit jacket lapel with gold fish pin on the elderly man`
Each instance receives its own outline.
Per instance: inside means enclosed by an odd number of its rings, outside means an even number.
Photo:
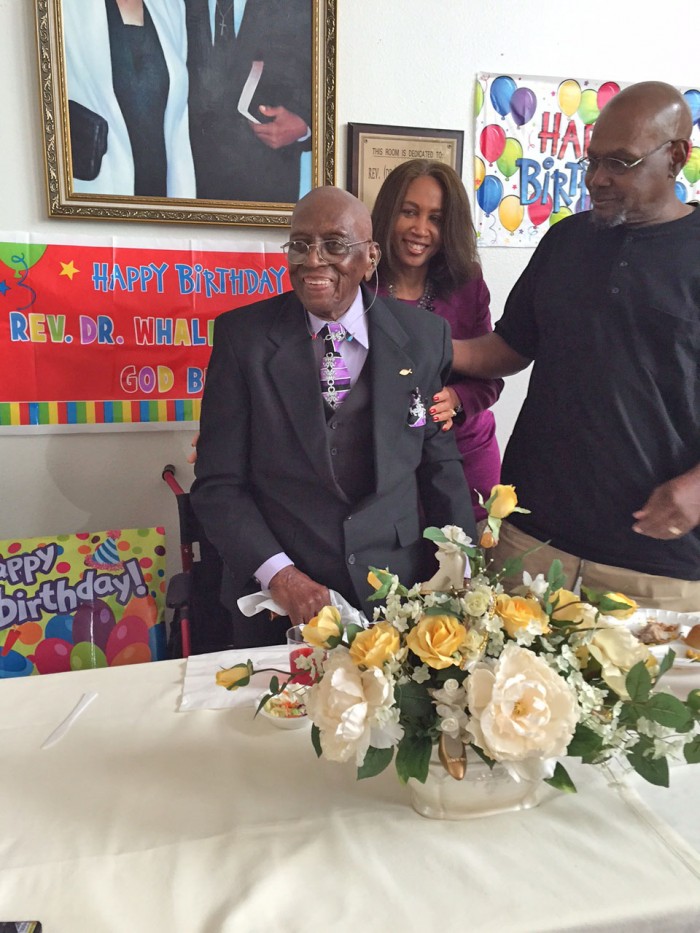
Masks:
[[[404,349],[408,334],[380,298],[369,312],[368,324],[375,476],[377,493],[381,494],[408,420],[418,376],[415,362]]]

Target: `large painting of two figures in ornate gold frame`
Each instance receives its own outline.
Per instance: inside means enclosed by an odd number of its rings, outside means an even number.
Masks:
[[[35,0],[50,217],[286,226],[335,183],[336,0]]]

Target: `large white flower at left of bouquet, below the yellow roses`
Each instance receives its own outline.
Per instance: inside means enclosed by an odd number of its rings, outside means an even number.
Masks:
[[[358,767],[370,745],[391,748],[403,734],[394,705],[394,684],[379,668],[361,671],[346,648],[335,648],[323,678],[306,695],[306,710],[320,730],[321,749],[331,761]]]

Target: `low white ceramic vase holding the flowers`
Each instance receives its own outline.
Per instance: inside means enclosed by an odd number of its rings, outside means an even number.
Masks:
[[[510,810],[536,807],[544,795],[543,781],[515,781],[503,765],[489,768],[471,749],[467,749],[467,771],[456,781],[445,771],[437,756],[430,759],[424,784],[415,778],[408,781],[411,806],[421,816],[433,820],[468,820]]]

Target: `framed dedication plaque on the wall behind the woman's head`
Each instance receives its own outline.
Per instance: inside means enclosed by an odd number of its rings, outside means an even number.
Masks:
[[[409,159],[446,162],[462,174],[464,132],[348,123],[347,188],[371,211],[389,172]]]

